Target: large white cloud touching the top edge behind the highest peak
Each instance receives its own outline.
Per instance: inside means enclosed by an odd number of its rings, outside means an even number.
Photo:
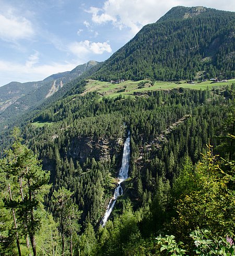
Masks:
[[[120,29],[131,29],[132,35],[136,34],[144,25],[156,22],[170,8],[183,6],[206,6],[224,10],[234,10],[233,0],[224,2],[215,0],[107,0],[102,8],[90,7],[86,10],[92,14],[92,21],[96,24],[112,22]]]

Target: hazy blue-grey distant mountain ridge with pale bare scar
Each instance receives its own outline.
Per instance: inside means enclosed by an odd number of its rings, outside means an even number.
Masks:
[[[97,64],[96,61],[89,61],[83,65],[78,65],[72,71],[53,74],[42,81],[11,82],[0,87],[0,120],[15,117],[31,107],[38,106],[64,85]]]

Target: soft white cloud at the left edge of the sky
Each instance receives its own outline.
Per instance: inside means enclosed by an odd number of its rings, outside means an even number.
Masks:
[[[0,38],[8,42],[30,39],[34,35],[31,22],[25,17],[15,16],[11,11],[0,14]]]

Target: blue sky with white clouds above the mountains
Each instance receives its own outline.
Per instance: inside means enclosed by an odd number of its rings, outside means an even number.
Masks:
[[[0,86],[107,60],[178,5],[235,11],[234,0],[0,0]]]

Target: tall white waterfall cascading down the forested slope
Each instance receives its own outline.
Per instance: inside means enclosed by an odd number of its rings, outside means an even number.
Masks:
[[[118,185],[114,191],[113,197],[110,199],[107,211],[105,212],[101,220],[102,227],[107,222],[113,210],[113,207],[116,203],[117,197],[123,194],[121,183],[128,178],[129,161],[130,161],[130,132],[128,132],[128,137],[126,138],[126,141],[124,144],[123,155],[122,155],[122,167],[119,171],[119,177],[118,177],[119,182],[117,182]]]

